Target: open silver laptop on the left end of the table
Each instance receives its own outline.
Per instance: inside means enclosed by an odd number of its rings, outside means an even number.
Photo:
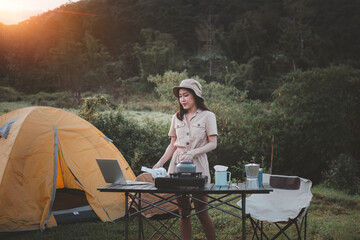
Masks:
[[[149,182],[126,180],[124,173],[122,172],[120,165],[116,159],[97,158],[96,162],[99,165],[105,182],[107,183],[122,185],[151,184]]]

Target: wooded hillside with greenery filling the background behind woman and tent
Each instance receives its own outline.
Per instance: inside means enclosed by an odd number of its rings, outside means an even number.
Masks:
[[[84,97],[108,96],[110,115],[83,117],[113,135],[134,168],[156,162],[168,126],[135,126],[116,107],[171,114],[167,91],[193,77],[218,117],[211,165],[243,176],[253,159],[359,193],[359,10],[358,0],[69,2],[0,23],[0,101],[37,96],[44,105],[51,96],[56,107],[80,109]]]

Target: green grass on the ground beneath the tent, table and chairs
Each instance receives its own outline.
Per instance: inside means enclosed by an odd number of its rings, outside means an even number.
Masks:
[[[308,239],[360,239],[360,196],[349,196],[339,191],[316,186],[312,189],[313,199],[308,214]],[[233,201],[236,204],[237,201]],[[231,210],[228,208],[228,210]],[[241,220],[218,210],[211,210],[217,239],[241,239]],[[196,217],[193,221],[193,239],[205,239],[202,227]],[[137,239],[137,218],[130,222],[130,239]],[[145,225],[145,236],[149,236],[152,229]],[[275,233],[274,226],[265,225],[267,232]],[[172,227],[179,231],[178,222]],[[118,219],[115,223],[103,223],[100,221],[62,224],[58,227],[47,229],[44,232],[31,231],[22,233],[0,233],[0,239],[13,240],[51,240],[51,239],[122,239],[124,234],[124,219]],[[247,221],[247,236],[251,239],[250,222]],[[287,230],[287,234],[295,239],[295,230]],[[279,239],[286,239],[284,237]]]

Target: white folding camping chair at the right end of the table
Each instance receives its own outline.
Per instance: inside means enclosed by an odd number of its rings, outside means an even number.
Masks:
[[[284,235],[292,226],[296,228],[297,239],[302,231],[306,239],[307,213],[312,199],[311,185],[308,179],[296,176],[263,174],[263,182],[273,188],[270,194],[253,194],[246,198],[246,214],[253,227],[253,239],[270,239],[264,232],[263,223],[274,224],[279,232],[271,239]],[[241,204],[241,203],[240,203]],[[260,233],[258,235],[258,233]]]

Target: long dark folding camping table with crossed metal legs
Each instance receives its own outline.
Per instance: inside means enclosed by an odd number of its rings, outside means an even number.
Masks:
[[[263,193],[270,193],[272,191],[272,188],[269,185],[264,185],[262,188],[259,189],[246,189],[245,183],[236,183],[231,184],[224,187],[217,187],[215,184],[206,184],[203,188],[194,188],[194,187],[181,187],[181,188],[173,188],[173,189],[158,189],[155,187],[154,184],[147,184],[147,185],[120,185],[120,184],[112,184],[109,186],[104,186],[98,188],[101,192],[124,192],[125,193],[125,239],[128,239],[128,233],[129,233],[129,217],[133,216],[135,214],[140,214],[143,211],[146,211],[150,208],[158,208],[162,209],[163,211],[166,211],[170,214],[173,214],[177,218],[189,218],[196,214],[199,214],[203,211],[209,210],[209,209],[218,209],[220,211],[223,211],[227,214],[230,214],[232,216],[235,216],[237,218],[243,219],[242,221],[242,239],[246,239],[245,230],[246,230],[246,211],[245,211],[245,201],[246,201],[246,194],[263,194]],[[149,193],[152,195],[157,196],[156,194],[159,193],[172,193],[173,196],[162,199],[156,203],[150,203],[146,201],[146,199],[141,198],[141,193]],[[167,211],[166,209],[162,208],[161,205],[166,202],[174,202],[176,204],[176,199],[180,197],[187,197],[189,199],[195,199],[191,194],[204,194],[208,197],[208,202],[203,202],[208,207],[204,210],[195,211],[194,213],[191,213],[187,216],[181,216],[177,213],[173,213],[170,211]],[[220,195],[220,196],[218,196]],[[228,198],[228,196],[230,196]],[[136,212],[130,213],[129,211],[129,197],[133,200],[137,199],[139,201],[139,208]],[[158,197],[158,196],[157,196]],[[235,199],[242,200],[242,206],[241,208],[237,205],[231,204],[230,202]],[[199,200],[201,201],[201,200]],[[145,208],[141,208],[141,202],[145,202],[149,204]],[[202,202],[202,201],[201,201]],[[228,211],[226,209],[221,208],[222,205],[230,206],[234,208],[234,211]],[[237,214],[237,211],[241,212],[241,215]],[[140,222],[139,222],[140,223]],[[140,227],[140,225],[139,225]],[[139,231],[139,239],[141,239],[141,233]]]

